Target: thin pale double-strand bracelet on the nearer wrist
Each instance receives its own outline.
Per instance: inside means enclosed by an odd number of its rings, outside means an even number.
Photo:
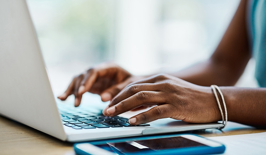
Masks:
[[[223,95],[221,89],[218,86],[211,85],[210,87],[213,90],[213,93],[214,93],[214,95],[216,97],[216,100],[217,100],[217,103],[218,103],[218,106],[219,106],[219,109],[220,109],[220,112],[221,112],[221,115],[222,115],[223,125],[224,125],[223,127],[218,128],[218,129],[223,129],[227,125],[227,109],[226,109],[226,105],[225,105],[225,98],[224,98],[224,95]],[[220,93],[220,95],[222,97],[222,101],[223,101],[224,108],[225,108],[225,117],[224,117],[224,113],[223,113],[223,110],[222,110],[222,107],[221,107],[221,104],[220,104],[219,97],[217,95],[216,89],[218,90],[218,92]]]

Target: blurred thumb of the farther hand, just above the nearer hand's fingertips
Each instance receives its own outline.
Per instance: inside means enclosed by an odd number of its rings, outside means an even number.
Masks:
[[[102,101],[110,101],[113,97],[115,97],[128,83],[130,79],[127,79],[119,84],[111,86],[110,88],[104,90],[101,94]]]

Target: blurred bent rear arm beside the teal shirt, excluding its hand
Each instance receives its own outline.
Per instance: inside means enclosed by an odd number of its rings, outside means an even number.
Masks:
[[[250,59],[246,31],[246,1],[241,0],[224,37],[206,62],[170,75],[201,86],[233,86]]]

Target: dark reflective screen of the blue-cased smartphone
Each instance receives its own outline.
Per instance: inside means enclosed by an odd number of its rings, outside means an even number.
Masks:
[[[117,154],[136,153],[140,151],[158,152],[166,149],[178,149],[199,146],[209,147],[205,144],[184,138],[182,136],[148,140],[124,141],[117,143],[107,142],[105,144],[99,144],[96,146]]]

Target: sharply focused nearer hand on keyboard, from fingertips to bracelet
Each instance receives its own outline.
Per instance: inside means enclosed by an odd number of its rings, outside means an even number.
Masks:
[[[102,113],[115,116],[143,105],[157,106],[131,117],[130,124],[138,125],[168,117],[190,123],[221,120],[210,87],[194,85],[167,74],[131,83],[111,100]]]

